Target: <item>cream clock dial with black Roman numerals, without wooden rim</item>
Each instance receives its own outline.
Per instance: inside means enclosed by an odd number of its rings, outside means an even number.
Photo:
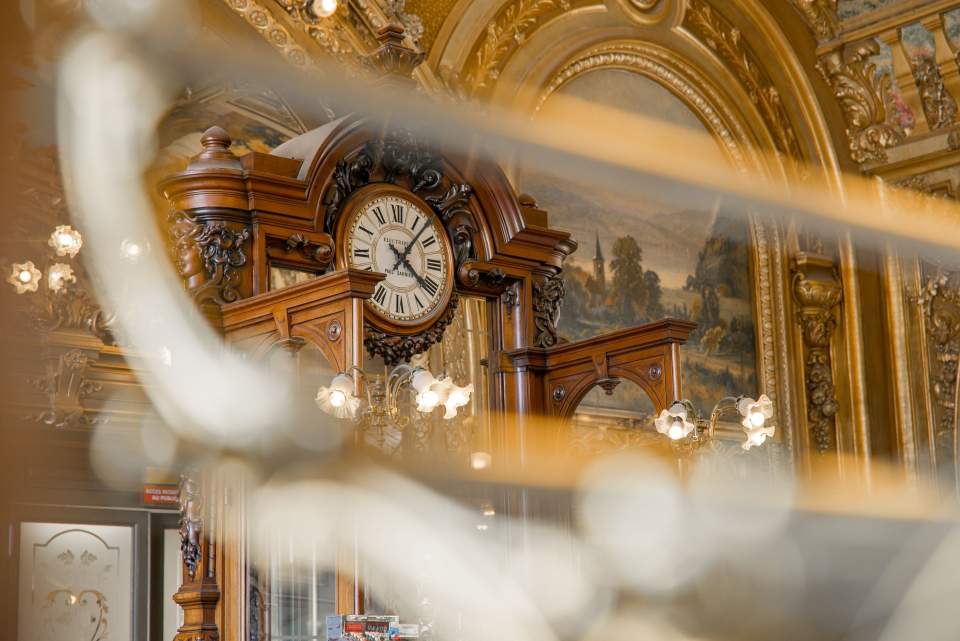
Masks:
[[[348,222],[346,249],[351,267],[387,275],[369,300],[381,316],[416,322],[446,303],[448,239],[437,217],[416,203],[395,195],[367,201]]]

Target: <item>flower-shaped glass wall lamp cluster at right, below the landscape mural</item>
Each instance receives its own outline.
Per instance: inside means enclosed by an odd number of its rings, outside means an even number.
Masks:
[[[672,441],[701,445],[711,440],[717,429],[720,417],[732,411],[741,416],[743,427],[743,449],[763,445],[764,441],[776,432],[768,422],[773,418],[773,401],[763,394],[757,400],[747,396],[727,396],[713,407],[710,419],[706,420],[688,399],[674,401],[669,408],[660,412],[654,421],[657,431]]]

